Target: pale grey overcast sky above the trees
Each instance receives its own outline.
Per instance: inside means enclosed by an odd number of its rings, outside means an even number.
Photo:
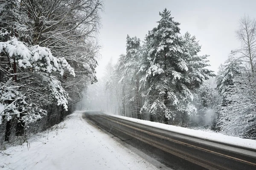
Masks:
[[[105,0],[104,3],[98,77],[111,57],[116,61],[120,54],[125,54],[127,34],[144,40],[145,34],[157,26],[159,11],[164,8],[180,23],[182,35],[189,31],[199,40],[200,54],[210,55],[213,71],[218,71],[230,51],[240,46],[236,38],[239,19],[244,14],[256,18],[256,0]]]

